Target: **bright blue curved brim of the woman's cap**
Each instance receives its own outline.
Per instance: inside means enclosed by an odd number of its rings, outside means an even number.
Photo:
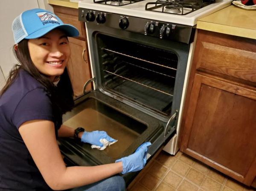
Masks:
[[[69,24],[61,24],[61,25],[55,25],[55,26],[48,26],[42,29],[39,29],[38,31],[33,32],[32,34],[26,36],[26,39],[33,39],[33,38],[39,38],[48,32],[52,31],[53,29],[61,29],[68,37],[76,37],[79,35],[78,29],[76,27],[69,25]]]

